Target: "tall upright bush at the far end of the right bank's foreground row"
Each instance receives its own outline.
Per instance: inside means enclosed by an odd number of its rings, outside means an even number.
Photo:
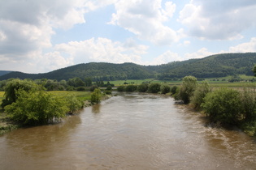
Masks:
[[[193,96],[193,91],[197,88],[197,78],[189,75],[183,78],[182,85],[180,87],[180,100],[184,101],[184,104],[189,104],[190,98]]]

